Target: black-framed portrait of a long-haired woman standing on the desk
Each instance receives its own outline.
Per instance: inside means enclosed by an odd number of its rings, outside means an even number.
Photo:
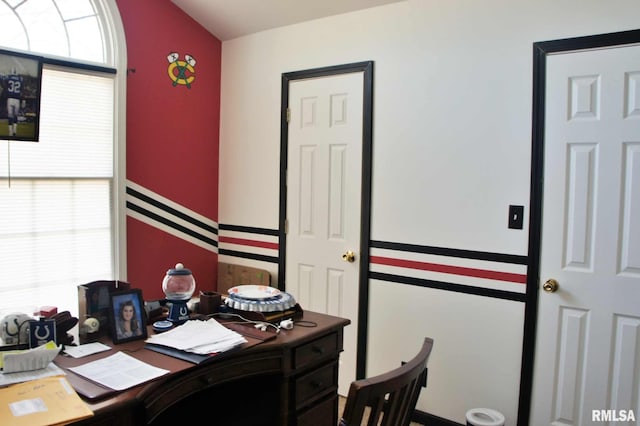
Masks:
[[[147,338],[147,321],[142,290],[110,294],[110,329],[114,344]]]

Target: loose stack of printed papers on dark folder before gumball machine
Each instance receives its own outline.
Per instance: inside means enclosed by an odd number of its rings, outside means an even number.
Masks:
[[[207,355],[228,351],[246,343],[247,339],[211,318],[207,321],[187,321],[172,330],[154,334],[146,342]]]

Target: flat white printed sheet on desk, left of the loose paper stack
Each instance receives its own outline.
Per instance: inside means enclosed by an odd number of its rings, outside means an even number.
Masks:
[[[169,373],[122,352],[69,370],[114,390],[125,390]]]

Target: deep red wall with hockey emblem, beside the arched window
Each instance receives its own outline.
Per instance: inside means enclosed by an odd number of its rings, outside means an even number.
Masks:
[[[222,43],[169,0],[117,0],[127,77],[127,179],[218,221]],[[170,78],[167,56],[196,60],[190,88]],[[164,297],[182,262],[197,290],[216,287],[217,254],[127,216],[127,280],[147,300]]]

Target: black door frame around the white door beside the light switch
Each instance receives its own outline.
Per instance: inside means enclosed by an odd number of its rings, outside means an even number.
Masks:
[[[533,397],[533,365],[540,282],[540,241],[542,237],[547,55],[637,43],[640,43],[640,30],[551,40],[533,44],[529,255],[527,264],[527,303],[525,304],[524,315],[522,370],[520,373],[520,397],[518,402],[518,425],[524,426],[529,424],[531,399]]]

